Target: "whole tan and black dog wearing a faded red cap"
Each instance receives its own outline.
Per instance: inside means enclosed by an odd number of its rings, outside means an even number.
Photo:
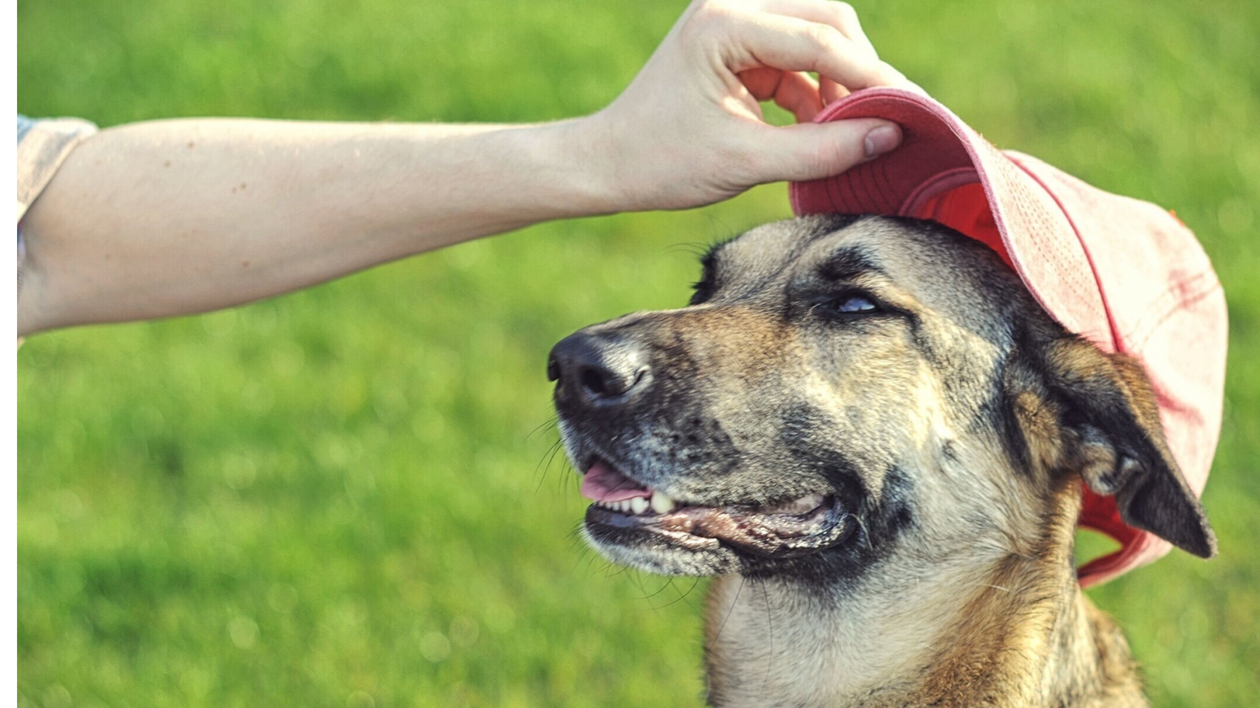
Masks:
[[[586,540],[716,577],[712,705],[1147,705],[1076,581],[1082,484],[1216,552],[1142,367],[932,222],[752,229],[689,306],[582,329],[548,377]]]

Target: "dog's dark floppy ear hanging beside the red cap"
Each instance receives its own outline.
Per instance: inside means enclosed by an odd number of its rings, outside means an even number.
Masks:
[[[1142,365],[1067,336],[1045,350],[1047,385],[1061,406],[1065,457],[1120,518],[1201,558],[1216,554],[1203,506],[1168,451],[1159,408]]]

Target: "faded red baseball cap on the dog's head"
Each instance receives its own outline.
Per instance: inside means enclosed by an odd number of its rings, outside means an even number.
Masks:
[[[847,173],[793,183],[793,210],[934,219],[988,244],[1060,324],[1145,367],[1168,447],[1202,494],[1221,430],[1227,320],[1221,283],[1194,234],[1154,204],[998,150],[919,93],[858,91],[815,122],[868,117],[898,123],[901,146]],[[1080,524],[1120,543],[1077,571],[1085,587],[1172,548],[1126,525],[1110,496],[1089,489]]]

